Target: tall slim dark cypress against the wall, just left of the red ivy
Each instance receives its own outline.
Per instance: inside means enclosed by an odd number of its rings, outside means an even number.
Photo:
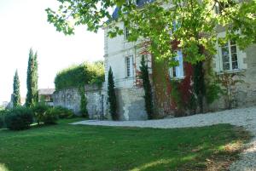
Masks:
[[[143,88],[144,88],[144,100],[145,100],[145,110],[147,111],[148,118],[153,119],[153,101],[152,101],[152,88],[149,80],[149,74],[148,74],[148,64],[145,61],[144,55],[143,59],[141,61],[141,79],[143,79]]]

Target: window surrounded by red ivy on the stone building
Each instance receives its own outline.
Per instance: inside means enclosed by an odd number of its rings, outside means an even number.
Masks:
[[[169,74],[172,79],[175,78],[183,78],[184,77],[184,71],[183,71],[183,53],[182,51],[177,51],[177,56],[175,60],[178,61],[178,66],[174,66],[169,69]]]

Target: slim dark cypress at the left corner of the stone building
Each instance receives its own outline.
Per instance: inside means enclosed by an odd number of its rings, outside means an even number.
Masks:
[[[119,115],[116,111],[117,103],[116,103],[116,96],[114,92],[114,82],[113,82],[113,71],[111,67],[108,71],[108,102],[109,102],[109,111],[111,117],[114,121],[119,120]]]

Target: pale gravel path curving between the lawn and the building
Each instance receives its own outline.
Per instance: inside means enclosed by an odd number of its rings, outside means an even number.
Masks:
[[[242,126],[253,134],[253,140],[247,144],[247,150],[241,153],[241,159],[230,166],[230,171],[256,171],[256,107],[199,114],[191,117],[150,121],[82,121],[73,124],[102,125],[140,128],[190,128],[203,127],[218,123],[230,123]]]

